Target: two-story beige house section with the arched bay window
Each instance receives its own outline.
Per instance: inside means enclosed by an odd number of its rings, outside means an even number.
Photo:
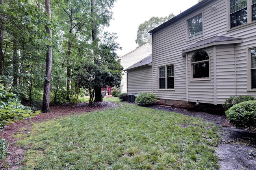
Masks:
[[[256,96],[256,0],[203,0],[149,33],[158,102]]]

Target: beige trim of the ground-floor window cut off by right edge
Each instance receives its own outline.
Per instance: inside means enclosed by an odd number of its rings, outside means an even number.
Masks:
[[[252,58],[250,50],[256,49],[256,46],[246,48],[246,56],[247,56],[247,91],[256,91],[256,89],[252,89]]]

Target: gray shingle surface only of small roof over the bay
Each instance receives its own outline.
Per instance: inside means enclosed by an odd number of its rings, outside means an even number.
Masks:
[[[199,46],[206,45],[206,44],[213,43],[213,42],[226,42],[226,41],[236,41],[236,40],[242,40],[242,38],[216,35],[211,38],[207,38],[205,40],[198,41],[198,42],[194,43],[193,45],[190,45],[189,47],[187,47],[184,50],[193,49],[195,47],[199,47]]]

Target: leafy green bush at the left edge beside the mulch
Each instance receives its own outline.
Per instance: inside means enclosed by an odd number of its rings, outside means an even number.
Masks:
[[[32,110],[20,104],[20,100],[13,93],[7,92],[0,85],[0,128],[4,124],[12,123],[15,120],[23,120],[23,118],[31,117]],[[37,112],[38,114],[39,112]],[[35,114],[34,114],[35,115]]]

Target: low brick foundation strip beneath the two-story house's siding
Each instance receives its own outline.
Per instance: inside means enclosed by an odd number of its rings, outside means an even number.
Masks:
[[[224,114],[224,110],[221,105],[200,103],[200,101],[199,101],[199,105],[195,105],[195,102],[187,102],[182,100],[168,100],[168,99],[157,99],[154,103],[160,104],[160,105],[166,105],[166,106],[185,108],[188,110],[209,112],[213,114]]]

